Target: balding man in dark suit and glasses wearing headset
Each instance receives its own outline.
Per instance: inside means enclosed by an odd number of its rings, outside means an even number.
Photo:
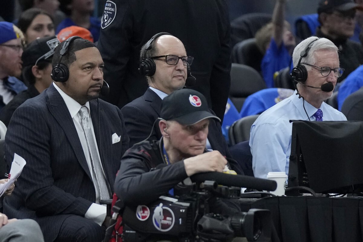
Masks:
[[[152,141],[162,137],[158,122],[155,121],[160,117],[162,99],[184,87],[187,69],[192,63],[193,57],[187,55],[183,43],[168,33],[155,34],[143,46],[139,70],[146,76],[149,88],[142,97],[121,109],[130,147],[144,139]],[[207,148],[218,150],[223,156],[230,158],[232,168],[237,173],[242,173],[236,161],[232,160],[220,122],[216,120],[209,123]]]

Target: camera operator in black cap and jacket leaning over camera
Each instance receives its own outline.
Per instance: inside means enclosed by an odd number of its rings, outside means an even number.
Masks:
[[[183,187],[179,183],[187,184],[183,181],[189,176],[222,172],[229,166],[219,151],[208,152],[205,148],[209,119],[219,118],[209,111],[201,93],[191,89],[174,91],[163,99],[160,116],[162,138],[136,143],[121,159],[114,187],[126,206],[148,204],[168,193],[185,193],[178,189]],[[213,199],[209,204],[213,213],[233,215],[240,211],[233,200]]]

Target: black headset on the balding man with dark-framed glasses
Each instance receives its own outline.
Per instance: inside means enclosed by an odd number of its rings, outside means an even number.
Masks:
[[[140,61],[140,65],[139,65],[139,73],[141,75],[146,75],[148,77],[151,77],[155,74],[155,70],[156,70],[156,65],[154,60],[152,60],[151,58],[146,58],[146,52],[148,50],[152,49],[152,42],[154,42],[154,40],[162,35],[171,35],[170,33],[166,33],[166,32],[161,32],[161,33],[157,33],[154,36],[151,37],[151,39],[149,41],[146,42],[146,44],[144,45],[144,48],[142,49],[143,55],[142,55],[142,60]]]

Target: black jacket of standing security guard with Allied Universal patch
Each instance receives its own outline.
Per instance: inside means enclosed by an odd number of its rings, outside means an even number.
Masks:
[[[143,95],[145,77],[138,73],[140,49],[154,34],[167,32],[193,56],[195,89],[223,120],[231,85],[231,24],[225,0],[113,0],[116,15],[101,29],[99,52],[110,85],[106,101],[122,108]],[[114,8],[114,6],[112,6]],[[178,14],[185,17],[178,17]],[[108,13],[110,17],[110,13]],[[117,33],[117,34],[115,34]]]

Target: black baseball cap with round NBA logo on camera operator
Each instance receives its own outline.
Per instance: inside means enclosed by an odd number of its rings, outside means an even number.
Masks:
[[[165,97],[161,103],[160,118],[183,125],[193,125],[208,118],[221,121],[209,110],[203,94],[192,89],[176,90]]]

